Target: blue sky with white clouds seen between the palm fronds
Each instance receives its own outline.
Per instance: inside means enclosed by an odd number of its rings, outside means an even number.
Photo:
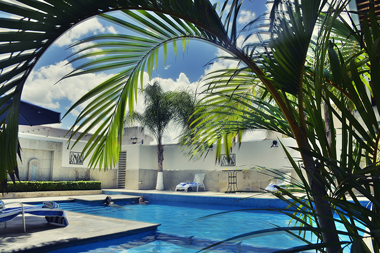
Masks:
[[[215,2],[215,1],[213,1]],[[246,0],[241,8],[239,16],[239,28],[242,28],[253,18],[267,11],[264,0]],[[222,2],[220,2],[222,5]],[[87,91],[98,85],[102,80],[117,71],[103,73],[86,74],[78,77],[71,77],[56,83],[63,75],[73,69],[64,59],[70,55],[72,50],[65,50],[68,45],[78,39],[85,38],[99,33],[125,33],[120,27],[107,23],[102,19],[94,18],[75,26],[66,34],[62,35],[47,50],[43,57],[37,62],[32,73],[25,83],[22,99],[28,102],[44,106],[46,108],[59,111],[62,116],[67,109],[82,97]],[[243,39],[243,38],[242,38]],[[178,87],[196,89],[198,81],[207,72],[220,67],[229,66],[231,62],[218,62],[211,66],[204,66],[211,59],[220,56],[222,51],[216,47],[201,43],[195,40],[189,41],[188,49],[182,54],[179,43],[177,59],[174,59],[174,50],[168,46],[168,57],[166,65],[159,63],[152,78],[158,78],[165,91],[174,90]],[[163,59],[163,54],[160,54]],[[147,77],[147,74],[145,75]],[[146,78],[146,81],[148,79]],[[145,82],[145,79],[144,79]],[[142,109],[141,99],[137,102],[137,109]],[[51,125],[56,128],[69,129],[73,124],[79,111],[74,110],[68,114],[61,124]],[[166,143],[175,143],[174,138],[177,132],[167,133]]]

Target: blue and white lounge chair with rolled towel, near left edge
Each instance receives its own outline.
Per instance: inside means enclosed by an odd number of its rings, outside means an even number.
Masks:
[[[21,207],[9,207],[5,208],[6,205],[17,203]],[[18,215],[22,215],[22,224],[25,229],[25,214],[36,215],[36,216],[45,216],[47,222],[62,224],[65,227],[68,226],[68,221],[66,219],[65,212],[58,208],[59,205],[53,201],[43,202],[44,206],[24,206],[21,202],[10,202],[4,203],[0,199],[0,223],[4,223],[4,227],[7,227],[7,222],[13,220]]]

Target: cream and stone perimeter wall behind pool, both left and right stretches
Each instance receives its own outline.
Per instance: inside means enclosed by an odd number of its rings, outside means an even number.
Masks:
[[[28,180],[28,162],[36,159],[40,162],[37,180],[100,180],[102,188],[117,188],[118,170],[99,171],[88,168],[87,161],[83,164],[70,164],[70,151],[81,152],[85,143],[81,142],[73,149],[67,149],[66,140],[55,140],[42,137],[38,139],[20,138],[22,160],[20,164],[20,179]],[[232,154],[236,156],[235,166],[222,166],[215,163],[215,151],[210,151],[207,157],[189,158],[187,150],[178,145],[164,147],[164,188],[175,189],[180,182],[192,182],[196,173],[206,173],[205,186],[209,191],[225,191],[228,187],[227,173],[229,170],[243,170],[238,173],[237,186],[239,190],[262,191],[272,176],[266,176],[257,168],[272,168],[288,173],[291,164],[281,147],[271,148],[271,140],[243,142],[241,147],[235,146]],[[294,140],[281,139],[293,157],[299,154],[291,149],[295,147]],[[280,146],[280,143],[279,143]],[[71,147],[71,145],[70,145]],[[126,189],[155,189],[157,181],[157,146],[145,144],[129,144],[122,146],[127,151]],[[295,175],[293,175],[295,176]]]

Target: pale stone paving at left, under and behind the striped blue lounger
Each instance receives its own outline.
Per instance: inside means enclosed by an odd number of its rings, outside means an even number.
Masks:
[[[82,201],[99,201],[107,195],[54,196],[22,199],[5,199],[5,203],[60,201],[79,199]],[[138,199],[136,196],[112,195],[113,200]],[[17,206],[10,204],[9,207]],[[8,206],[7,206],[8,207]],[[69,225],[67,227],[47,223],[43,216],[25,215],[26,233],[23,231],[22,217],[19,215],[1,224],[0,252],[44,252],[56,248],[68,247],[94,240],[122,237],[148,230],[156,230],[160,224],[107,218],[83,213],[65,211]]]

